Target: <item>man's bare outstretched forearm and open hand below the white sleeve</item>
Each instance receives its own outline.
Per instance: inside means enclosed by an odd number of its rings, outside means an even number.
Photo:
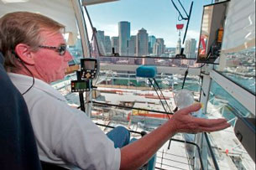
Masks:
[[[191,116],[201,109],[201,103],[177,111],[165,124],[136,142],[121,148],[120,169],[138,169],[177,132],[197,133],[220,131],[230,126],[225,119],[207,120]]]

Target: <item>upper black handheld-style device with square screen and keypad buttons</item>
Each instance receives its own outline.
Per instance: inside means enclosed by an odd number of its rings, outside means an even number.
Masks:
[[[81,59],[81,79],[95,79],[99,72],[98,59],[85,58]]]

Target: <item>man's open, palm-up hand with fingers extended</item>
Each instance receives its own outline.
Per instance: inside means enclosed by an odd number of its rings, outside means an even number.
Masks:
[[[188,106],[180,111],[175,112],[170,121],[175,128],[175,132],[211,132],[220,131],[230,126],[226,119],[202,119],[191,116],[191,112],[201,109],[201,103]]]

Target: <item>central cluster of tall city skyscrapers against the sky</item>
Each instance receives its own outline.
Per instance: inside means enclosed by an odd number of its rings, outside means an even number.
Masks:
[[[118,22],[118,37],[110,37],[105,34],[104,30],[97,30],[96,37],[100,52],[102,54],[118,53],[119,55],[130,56],[165,54],[164,39],[149,35],[145,28],[139,29],[138,33],[132,35],[130,24],[128,21]]]

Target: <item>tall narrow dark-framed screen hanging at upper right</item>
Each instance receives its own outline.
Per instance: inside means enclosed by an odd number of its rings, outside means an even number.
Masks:
[[[229,1],[203,7],[197,63],[214,63],[222,48],[222,36]]]

